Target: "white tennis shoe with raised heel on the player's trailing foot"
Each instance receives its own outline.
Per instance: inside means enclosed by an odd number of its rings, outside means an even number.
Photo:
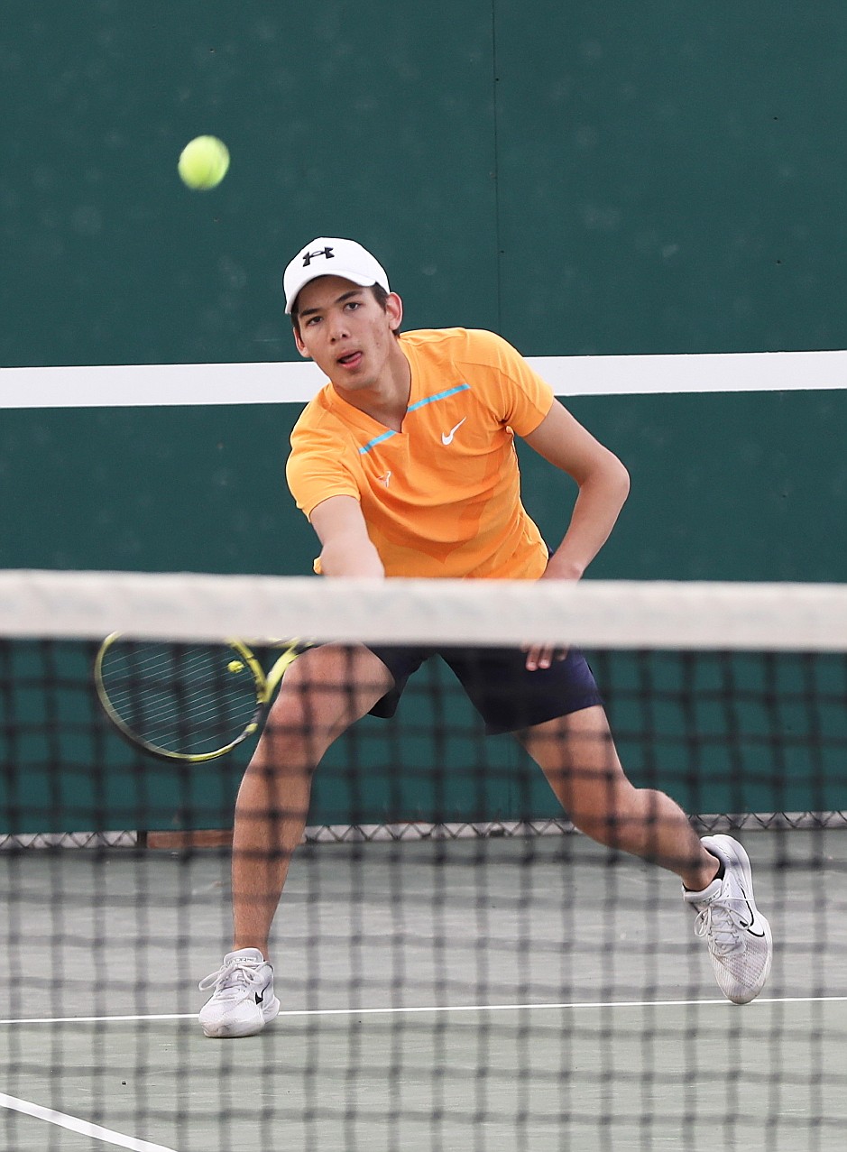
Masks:
[[[718,987],[736,1005],[755,1000],[771,971],[771,926],[753,899],[750,858],[732,836],[703,836],[703,847],[724,865],[721,879],[687,892],[697,911],[694,931],[705,937]]]

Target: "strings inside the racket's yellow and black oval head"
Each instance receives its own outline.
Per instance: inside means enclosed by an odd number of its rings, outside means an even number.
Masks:
[[[101,677],[123,723],[171,752],[228,744],[258,705],[252,672],[233,649],[119,642],[104,657]]]

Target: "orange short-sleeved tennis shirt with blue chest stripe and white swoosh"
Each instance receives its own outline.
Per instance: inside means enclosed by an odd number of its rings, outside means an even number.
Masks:
[[[402,431],[327,384],[292,432],[297,507],[358,500],[386,576],[537,578],[547,550],[521,503],[514,435],[538,427],[552,388],[491,332],[409,332],[400,346],[411,366]]]

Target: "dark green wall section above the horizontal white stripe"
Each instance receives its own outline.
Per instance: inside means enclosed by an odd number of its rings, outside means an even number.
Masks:
[[[7,0],[0,363],[292,359],[317,235],[532,355],[844,348],[846,48],[840,0]]]

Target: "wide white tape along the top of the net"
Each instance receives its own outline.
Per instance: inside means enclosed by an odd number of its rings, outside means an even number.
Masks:
[[[0,636],[847,651],[847,586],[0,573]]]

